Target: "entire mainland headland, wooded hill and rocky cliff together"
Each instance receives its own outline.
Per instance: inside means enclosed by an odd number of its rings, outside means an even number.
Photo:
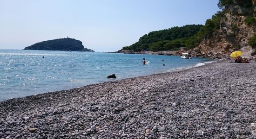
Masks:
[[[186,47],[203,57],[224,57],[237,50],[255,56],[256,0],[219,0],[218,6],[220,11],[207,19],[205,25],[149,32],[122,50],[169,51]]]

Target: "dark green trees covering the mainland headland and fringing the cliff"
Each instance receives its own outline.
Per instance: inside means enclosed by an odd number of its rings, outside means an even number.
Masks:
[[[244,7],[252,6],[251,0],[236,0],[237,4]],[[179,47],[194,48],[202,39],[209,38],[213,32],[220,29],[220,22],[234,0],[219,0],[218,7],[222,11],[215,13],[207,19],[205,25],[184,25],[166,30],[149,32],[143,35],[138,42],[122,48],[124,51],[168,51],[177,50]],[[255,19],[247,19],[248,25],[255,24]],[[120,50],[121,51],[121,50]]]

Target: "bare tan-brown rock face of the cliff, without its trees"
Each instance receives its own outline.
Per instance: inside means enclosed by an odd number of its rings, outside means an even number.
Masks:
[[[234,0],[220,22],[220,29],[209,38],[204,38],[199,46],[193,49],[206,57],[223,57],[236,50],[244,51],[247,57],[256,55],[255,49],[248,46],[248,39],[256,32],[256,25],[248,25],[246,18],[256,18],[256,0],[253,6],[243,7]]]

